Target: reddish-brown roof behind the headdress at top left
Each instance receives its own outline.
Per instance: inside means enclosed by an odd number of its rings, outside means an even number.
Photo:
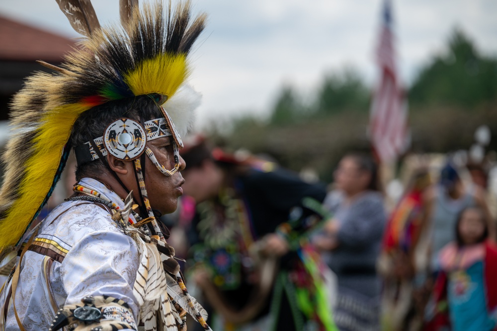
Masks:
[[[0,16],[0,60],[61,62],[75,42]]]

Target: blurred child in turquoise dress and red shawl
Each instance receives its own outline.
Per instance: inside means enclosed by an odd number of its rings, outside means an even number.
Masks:
[[[484,211],[465,208],[456,222],[456,241],[439,255],[435,315],[425,330],[497,330],[497,247],[487,239]]]

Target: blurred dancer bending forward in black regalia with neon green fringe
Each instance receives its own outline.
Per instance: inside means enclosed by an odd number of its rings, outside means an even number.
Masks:
[[[200,142],[182,153],[195,282],[215,330],[335,330],[319,256],[301,246],[321,219],[326,191],[274,163],[237,160]]]

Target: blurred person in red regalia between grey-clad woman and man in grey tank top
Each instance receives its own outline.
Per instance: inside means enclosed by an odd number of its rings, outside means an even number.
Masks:
[[[418,330],[423,309],[416,304],[415,250],[422,220],[422,196],[431,184],[426,169],[416,171],[406,193],[392,211],[383,239],[379,263],[383,282],[383,330]]]

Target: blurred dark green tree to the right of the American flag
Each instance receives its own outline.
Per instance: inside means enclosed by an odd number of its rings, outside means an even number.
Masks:
[[[455,29],[447,52],[423,67],[414,81],[412,105],[455,105],[472,108],[497,97],[497,61],[479,54],[474,43]]]

